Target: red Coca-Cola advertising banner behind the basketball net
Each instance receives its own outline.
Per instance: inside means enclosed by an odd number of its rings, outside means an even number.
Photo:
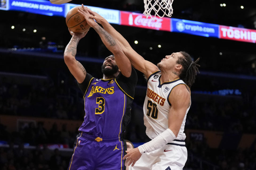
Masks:
[[[159,18],[156,17],[152,20],[150,17],[146,18],[145,15],[120,11],[121,14],[121,25],[128,25],[132,27],[140,27],[147,29],[156,29],[162,31],[171,31],[171,18]]]

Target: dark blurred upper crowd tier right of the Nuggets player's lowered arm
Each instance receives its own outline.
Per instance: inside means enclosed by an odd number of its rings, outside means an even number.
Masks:
[[[236,101],[194,102],[187,114],[186,128],[255,134],[256,114]]]

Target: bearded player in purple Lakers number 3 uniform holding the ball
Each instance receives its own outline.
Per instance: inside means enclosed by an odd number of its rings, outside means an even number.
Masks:
[[[95,23],[95,22],[94,22]],[[100,27],[100,26],[99,26]],[[123,156],[126,142],[122,134],[131,118],[137,74],[118,43],[103,28],[94,28],[103,43],[114,54],[105,58],[103,78],[94,78],[75,59],[77,45],[86,33],[70,31],[64,61],[83,92],[85,117],[74,144],[68,170],[125,169]]]

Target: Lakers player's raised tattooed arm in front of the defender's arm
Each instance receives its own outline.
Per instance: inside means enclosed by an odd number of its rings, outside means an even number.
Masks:
[[[87,23],[99,34],[107,49],[109,49],[114,54],[115,62],[117,63],[121,73],[125,77],[130,77],[131,62],[122,51],[118,42],[105,29],[103,29],[98,23],[89,17],[91,14],[87,10],[83,11],[82,9],[79,9],[79,12],[84,16]]]

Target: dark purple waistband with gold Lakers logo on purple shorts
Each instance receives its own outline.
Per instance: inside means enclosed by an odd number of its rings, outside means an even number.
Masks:
[[[99,136],[94,136],[90,135],[87,133],[80,133],[80,135],[90,141],[95,141],[95,142],[117,142],[119,140],[122,140],[122,135],[120,136],[115,136],[115,137],[99,137]]]

